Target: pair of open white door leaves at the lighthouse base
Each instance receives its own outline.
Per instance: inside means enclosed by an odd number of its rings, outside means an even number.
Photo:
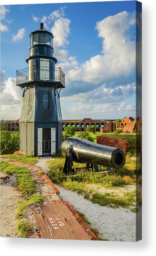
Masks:
[[[51,128],[51,155],[56,153],[56,128]],[[42,156],[42,128],[38,128],[38,156]]]

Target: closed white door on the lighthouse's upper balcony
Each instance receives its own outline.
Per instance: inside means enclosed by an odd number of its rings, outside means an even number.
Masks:
[[[49,59],[40,58],[40,79],[49,80]]]

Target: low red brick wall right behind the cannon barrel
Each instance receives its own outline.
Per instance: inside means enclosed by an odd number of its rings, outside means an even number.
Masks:
[[[113,139],[113,138],[108,138],[104,136],[97,136],[97,144],[109,146],[109,147],[115,147],[115,148],[120,148],[126,152],[129,150],[129,141],[128,140],[123,140],[123,139]]]

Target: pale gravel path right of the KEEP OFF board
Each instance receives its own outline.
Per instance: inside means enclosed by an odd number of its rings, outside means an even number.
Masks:
[[[100,232],[103,239],[135,242],[135,213],[121,207],[112,209],[92,204],[83,196],[56,186],[60,190],[61,198],[69,201],[75,209],[84,213],[91,222],[91,226]]]

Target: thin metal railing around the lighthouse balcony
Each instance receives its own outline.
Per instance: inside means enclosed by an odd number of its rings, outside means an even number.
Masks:
[[[65,75],[61,68],[37,67],[32,66],[17,70],[17,84],[29,82],[31,80],[44,80],[61,82],[64,85]]]

